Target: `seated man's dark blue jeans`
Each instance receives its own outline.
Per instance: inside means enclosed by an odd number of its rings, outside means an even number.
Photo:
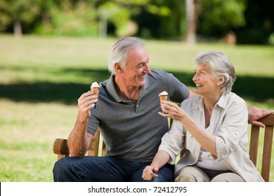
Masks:
[[[113,157],[84,156],[83,158],[67,157],[56,162],[53,167],[53,180],[80,182],[119,182],[145,181],[142,178],[143,169],[151,162],[122,160]],[[165,165],[158,177],[152,182],[174,181],[174,165]]]

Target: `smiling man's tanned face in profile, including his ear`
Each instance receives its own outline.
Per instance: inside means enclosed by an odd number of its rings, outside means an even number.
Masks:
[[[121,75],[126,85],[138,87],[145,85],[145,74],[151,72],[148,61],[149,56],[145,48],[129,49],[126,57],[126,68]]]

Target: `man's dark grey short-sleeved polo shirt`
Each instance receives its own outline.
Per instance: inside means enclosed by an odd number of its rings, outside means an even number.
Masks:
[[[88,132],[94,134],[99,127],[107,146],[107,156],[124,160],[152,161],[163,135],[169,130],[158,94],[169,93],[168,99],[181,103],[189,97],[189,89],[171,73],[152,70],[145,76],[138,102],[119,98],[114,76],[100,83],[98,103],[91,109]]]

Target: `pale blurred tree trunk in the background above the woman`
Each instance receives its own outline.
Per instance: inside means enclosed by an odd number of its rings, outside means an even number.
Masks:
[[[196,14],[194,0],[185,0],[187,32],[185,41],[188,45],[196,43]]]

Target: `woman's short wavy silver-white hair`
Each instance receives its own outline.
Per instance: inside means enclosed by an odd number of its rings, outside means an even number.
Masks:
[[[195,57],[196,65],[207,65],[215,78],[223,78],[224,82],[220,85],[221,92],[228,94],[232,90],[236,80],[235,69],[227,55],[222,52],[199,52]]]

